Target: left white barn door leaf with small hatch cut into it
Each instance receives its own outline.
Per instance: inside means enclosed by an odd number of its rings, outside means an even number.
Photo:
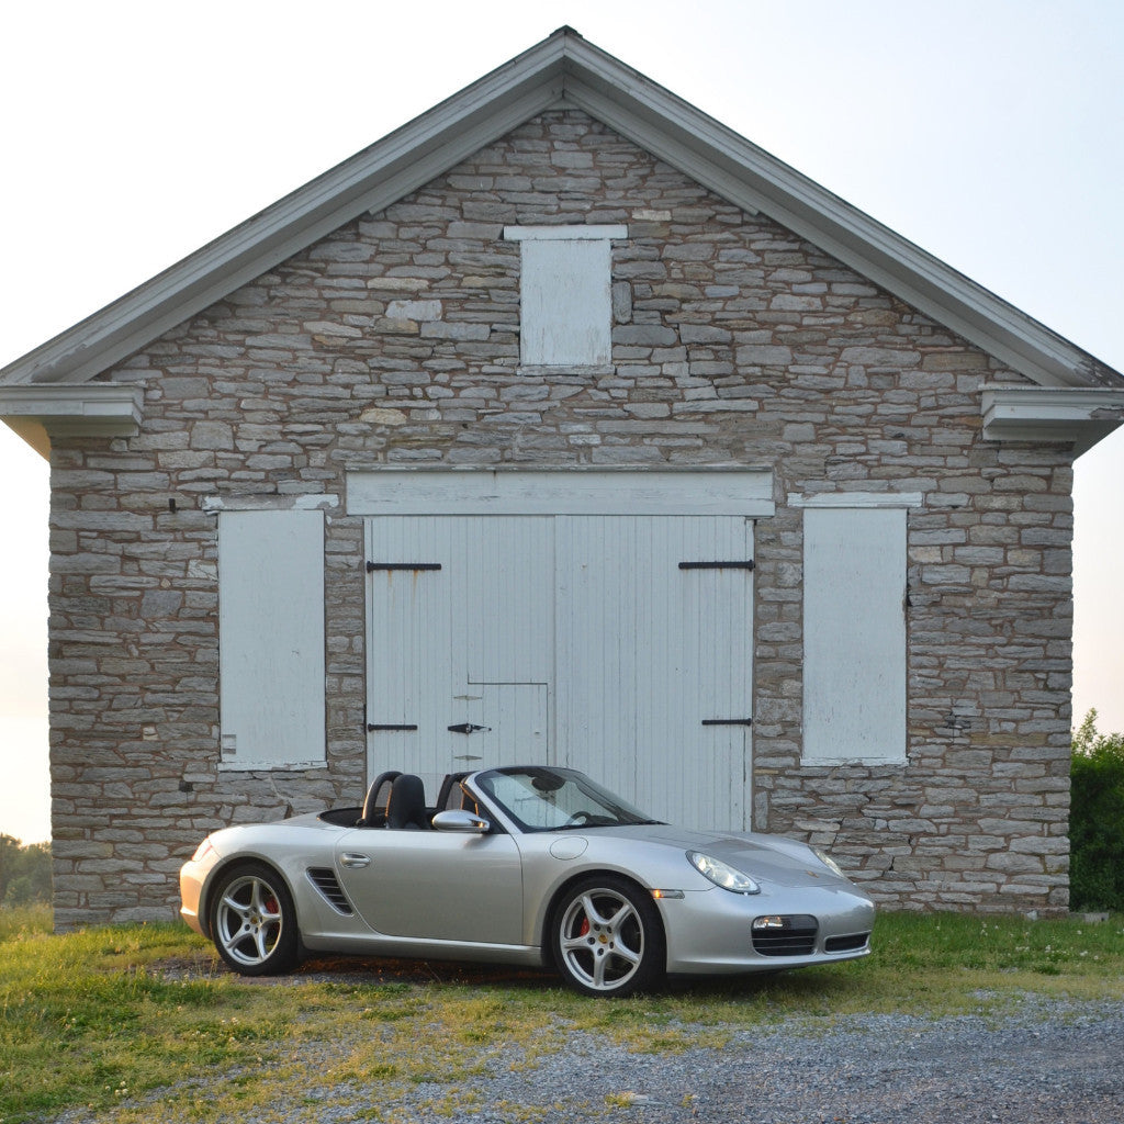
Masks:
[[[552,520],[388,516],[368,524],[368,774],[546,761]]]

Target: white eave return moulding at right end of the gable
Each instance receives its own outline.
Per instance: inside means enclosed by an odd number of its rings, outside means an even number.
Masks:
[[[1072,444],[1080,456],[1124,422],[1124,389],[984,387],[985,441]]]

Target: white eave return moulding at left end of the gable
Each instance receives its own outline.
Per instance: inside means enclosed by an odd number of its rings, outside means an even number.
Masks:
[[[144,391],[136,384],[0,387],[0,418],[44,457],[51,435],[132,437],[140,432]]]

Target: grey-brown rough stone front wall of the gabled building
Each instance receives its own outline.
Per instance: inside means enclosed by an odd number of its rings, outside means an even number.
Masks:
[[[504,225],[625,223],[614,368],[520,371]],[[357,803],[362,522],[327,522],[327,768],[218,770],[207,497],[343,497],[364,465],[769,465],[755,532],[755,824],[831,846],[885,903],[1067,904],[1071,455],[980,439],[1021,381],[760,215],[575,112],[537,118],[169,332],[129,439],[53,450],[60,927],[171,916],[207,831]],[[908,764],[801,768],[801,516],[921,492]]]

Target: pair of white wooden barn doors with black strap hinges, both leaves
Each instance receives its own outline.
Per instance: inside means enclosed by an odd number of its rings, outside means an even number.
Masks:
[[[368,522],[368,771],[571,764],[661,819],[750,826],[752,520]]]

